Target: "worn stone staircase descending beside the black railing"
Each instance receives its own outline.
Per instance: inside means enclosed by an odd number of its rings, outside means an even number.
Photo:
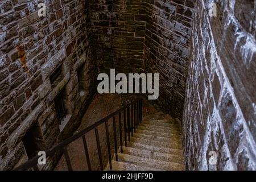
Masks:
[[[175,119],[163,113],[143,118],[141,125],[120,147],[118,162],[112,160],[114,171],[184,170],[180,126]],[[109,165],[106,169],[109,169]]]

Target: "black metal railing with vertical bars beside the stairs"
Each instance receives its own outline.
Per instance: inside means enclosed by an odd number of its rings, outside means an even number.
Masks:
[[[105,130],[106,130],[106,144],[108,148],[108,158],[109,158],[109,168],[112,169],[112,154],[111,154],[111,147],[110,147],[110,137],[109,137],[109,119],[112,119],[113,123],[113,130],[114,130],[114,151],[115,151],[115,160],[118,161],[118,136],[117,136],[117,126],[116,126],[116,120],[115,117],[118,116],[118,122],[119,122],[119,143],[120,143],[120,152],[123,152],[123,144],[127,146],[127,140],[130,141],[130,136],[133,137],[133,132],[136,133],[136,129],[141,124],[142,121],[142,99],[139,98],[137,100],[134,100],[130,102],[129,104],[124,105],[121,109],[115,111],[114,113],[108,115],[107,117],[101,119],[100,121],[94,123],[93,125],[86,127],[86,129],[80,131],[79,133],[73,135],[72,137],[65,139],[60,144],[57,144],[57,146],[52,147],[50,150],[46,151],[46,158],[49,156],[53,156],[58,151],[64,152],[64,158],[65,162],[67,163],[68,170],[72,171],[72,164],[71,159],[69,158],[67,146],[71,142],[82,138],[82,142],[84,144],[84,151],[86,156],[86,162],[88,166],[88,170],[92,170],[92,166],[90,164],[90,156],[88,151],[88,146],[86,142],[85,134],[89,131],[94,130],[95,136],[96,136],[96,143],[97,143],[97,151],[98,151],[98,158],[100,159],[100,169],[103,170],[103,160],[102,160],[102,151],[101,151],[101,145],[100,145],[100,137],[98,133],[97,127],[101,124],[105,123]],[[123,113],[123,125],[122,125],[122,113]],[[122,127],[123,126],[123,127]],[[124,131],[122,133],[122,131]],[[128,135],[128,137],[127,137]],[[123,142],[123,138],[125,141]],[[14,170],[28,170],[30,168],[37,167],[38,159],[40,156],[35,156],[31,160],[28,160],[26,163],[20,165],[19,167],[15,168]]]

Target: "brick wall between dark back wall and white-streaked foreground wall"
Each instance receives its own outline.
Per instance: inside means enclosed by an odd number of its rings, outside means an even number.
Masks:
[[[157,104],[182,118],[195,2],[146,2],[146,70],[160,73]]]

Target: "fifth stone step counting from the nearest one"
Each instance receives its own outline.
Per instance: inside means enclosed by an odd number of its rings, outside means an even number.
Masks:
[[[157,140],[151,140],[151,139],[146,139],[146,138],[137,138],[137,137],[130,137],[130,141],[147,144],[149,146],[182,149],[182,144],[177,143],[177,142],[159,142]]]

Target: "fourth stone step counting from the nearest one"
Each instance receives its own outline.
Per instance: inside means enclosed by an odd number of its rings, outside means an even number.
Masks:
[[[149,145],[143,144],[143,143],[128,142],[128,141],[127,141],[127,147],[139,148],[139,149],[143,149],[143,150],[149,150],[151,152],[160,152],[160,153],[164,153],[164,154],[171,154],[171,155],[177,155],[177,156],[183,157],[183,150],[180,150],[177,148],[149,146]]]

